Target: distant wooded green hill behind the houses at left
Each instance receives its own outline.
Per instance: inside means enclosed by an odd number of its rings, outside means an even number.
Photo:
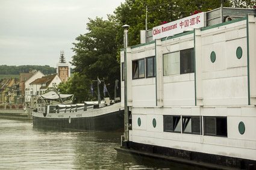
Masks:
[[[32,70],[41,71],[43,74],[54,74],[56,69],[49,65],[0,65],[0,74],[29,73]]]

